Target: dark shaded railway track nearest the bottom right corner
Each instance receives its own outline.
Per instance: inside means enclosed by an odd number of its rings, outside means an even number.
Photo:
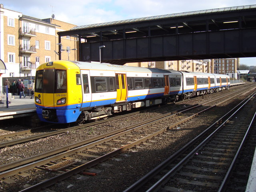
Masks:
[[[214,131],[202,142],[198,140],[202,140],[206,132],[200,134],[124,192],[224,191],[238,154],[255,121],[255,108],[254,93],[235,110],[225,115],[220,125],[216,122],[212,124],[206,131]],[[194,145],[195,147],[191,148]]]

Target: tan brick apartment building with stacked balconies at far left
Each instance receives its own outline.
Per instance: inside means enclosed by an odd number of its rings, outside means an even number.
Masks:
[[[77,60],[77,38],[62,37],[59,45],[57,34],[74,26],[55,20],[54,15],[47,19],[33,18],[0,4],[0,59],[6,66],[1,77],[35,76],[40,64],[58,60],[59,46],[63,60]]]

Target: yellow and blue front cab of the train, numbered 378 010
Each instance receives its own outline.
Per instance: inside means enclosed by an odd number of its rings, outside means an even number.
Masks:
[[[67,61],[61,61],[61,64],[49,62],[38,67],[35,103],[40,120],[53,123],[76,121],[82,101],[76,74],[79,74],[79,69]]]

